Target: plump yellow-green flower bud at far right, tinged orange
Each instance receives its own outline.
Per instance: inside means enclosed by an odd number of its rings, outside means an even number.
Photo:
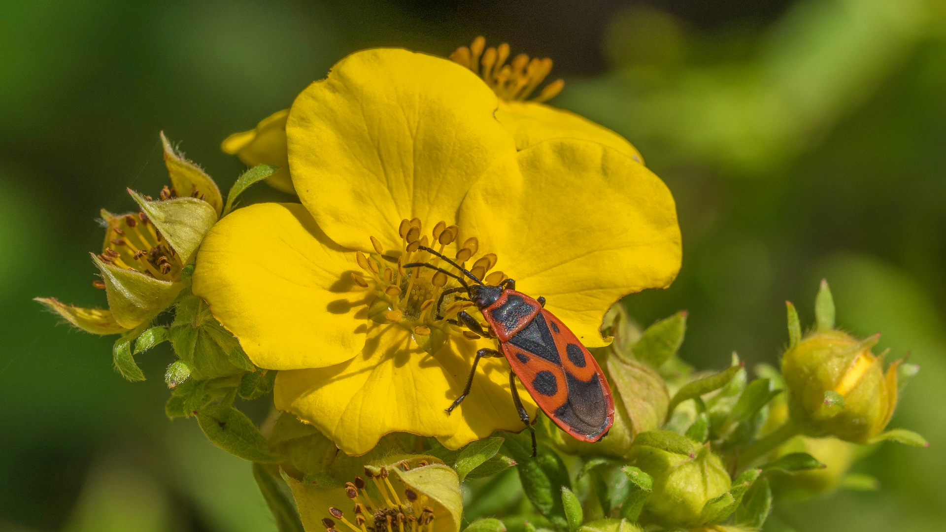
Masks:
[[[878,338],[819,330],[785,353],[789,414],[804,434],[866,443],[884,431],[897,404],[898,364],[884,374],[883,357],[871,352]]]

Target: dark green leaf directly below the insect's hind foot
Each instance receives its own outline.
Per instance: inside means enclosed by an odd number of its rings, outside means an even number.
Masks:
[[[529,434],[510,434],[504,448],[517,462],[522,491],[529,502],[557,528],[569,526],[565,508],[558,490],[571,488],[569,470],[562,459],[545,445],[539,445],[536,456],[532,454],[532,439]]]

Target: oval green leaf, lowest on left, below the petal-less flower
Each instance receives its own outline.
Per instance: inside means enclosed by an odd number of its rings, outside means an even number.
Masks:
[[[199,410],[197,422],[207,439],[223,451],[251,462],[282,461],[269,452],[269,442],[253,421],[226,401]]]

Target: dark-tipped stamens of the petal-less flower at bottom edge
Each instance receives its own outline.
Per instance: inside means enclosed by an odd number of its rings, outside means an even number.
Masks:
[[[427,465],[423,460],[418,463],[418,467]],[[398,467],[411,469],[407,461],[401,462]],[[345,495],[355,503],[355,523],[346,519],[339,508],[329,507],[331,517],[322,520],[326,532],[339,532],[335,520],[347,526],[349,532],[432,532],[434,515],[433,508],[425,505],[427,496],[405,487],[402,502],[398,491],[388,480],[389,474],[390,471],[384,466],[364,468],[364,476],[374,483],[380,493],[381,501],[377,502],[368,494],[364,478],[357,476],[355,482],[346,483]]]

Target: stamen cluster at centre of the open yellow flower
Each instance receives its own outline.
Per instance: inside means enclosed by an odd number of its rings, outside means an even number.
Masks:
[[[429,338],[425,337],[431,333],[479,338],[469,330],[461,329],[456,321],[457,312],[473,306],[465,297],[467,294],[463,285],[456,278],[464,277],[464,273],[436,254],[446,255],[444,252],[447,246],[456,242],[457,252],[451,254],[451,260],[492,286],[506,278],[502,272],[490,272],[496,266],[496,255],[488,253],[474,260],[473,257],[480,252],[480,240],[470,237],[460,245],[457,241],[460,229],[456,225],[447,226],[446,222],[438,222],[430,233],[432,238],[421,235],[421,231],[420,219],[401,221],[397,228],[401,239],[400,255],[397,257],[385,254],[381,243],[374,237],[371,237],[371,243],[375,253],[366,256],[358,252],[356,258],[359,267],[367,273],[367,278],[358,274],[352,274],[352,278],[360,287],[371,289],[375,295],[369,304],[369,315],[379,323],[396,323],[411,330],[417,344],[425,347],[430,345],[429,350],[433,347]],[[419,262],[444,271],[423,266],[403,266]],[[467,268],[467,263],[472,265]],[[474,282],[469,278],[465,280]]]

